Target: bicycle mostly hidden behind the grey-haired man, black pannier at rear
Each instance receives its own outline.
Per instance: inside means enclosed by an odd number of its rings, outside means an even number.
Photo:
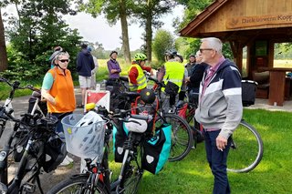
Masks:
[[[255,104],[255,98],[253,101],[254,94],[248,94],[248,100],[245,100],[245,91],[251,90],[250,92],[255,93],[255,82],[243,80],[243,106],[249,107]],[[250,89],[245,87],[252,87]],[[255,96],[254,96],[255,97]],[[182,103],[183,104],[183,103]],[[187,106],[186,106],[187,105]],[[179,107],[176,110],[177,114],[186,112],[183,115],[188,121],[190,117],[194,118],[194,111],[196,106],[192,103],[184,102],[184,107]],[[184,109],[183,109],[184,108]],[[185,108],[187,110],[185,111]],[[196,121],[194,121],[196,123]],[[200,131],[200,125],[194,125],[196,131]],[[229,149],[227,159],[227,170],[232,172],[249,172],[253,170],[263,158],[264,144],[260,137],[260,134],[256,129],[248,124],[244,118],[240,121],[238,127],[235,129],[231,138],[231,148]]]

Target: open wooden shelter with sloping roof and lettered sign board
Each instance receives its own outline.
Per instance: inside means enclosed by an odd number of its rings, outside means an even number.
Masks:
[[[292,42],[291,0],[215,0],[180,34],[214,36],[229,42],[236,65],[241,71],[246,69],[246,78],[253,79],[253,72],[269,71],[269,104],[283,106],[285,92],[290,93],[286,72],[292,68],[273,67],[274,46]],[[246,64],[243,63],[244,48]]]

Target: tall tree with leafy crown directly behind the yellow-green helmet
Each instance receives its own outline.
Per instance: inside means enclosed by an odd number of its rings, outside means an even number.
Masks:
[[[163,23],[159,18],[172,12],[172,7],[176,5],[173,0],[136,0],[134,1],[133,12],[141,20],[141,26],[145,27],[145,49],[148,60],[151,62],[152,52],[152,27],[160,28]]]

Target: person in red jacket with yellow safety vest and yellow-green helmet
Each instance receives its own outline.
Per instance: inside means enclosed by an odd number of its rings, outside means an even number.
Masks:
[[[134,56],[134,61],[128,71],[130,91],[141,92],[142,89],[147,87],[144,70],[151,72],[151,67],[145,66],[146,60],[147,56],[142,53],[137,53]]]

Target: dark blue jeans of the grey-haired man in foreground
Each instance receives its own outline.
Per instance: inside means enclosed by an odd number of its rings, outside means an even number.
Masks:
[[[230,138],[228,139],[226,148],[223,151],[216,147],[216,138],[220,130],[204,131],[205,149],[209,166],[214,175],[213,194],[229,194],[230,187],[227,178],[227,156],[230,148]]]

